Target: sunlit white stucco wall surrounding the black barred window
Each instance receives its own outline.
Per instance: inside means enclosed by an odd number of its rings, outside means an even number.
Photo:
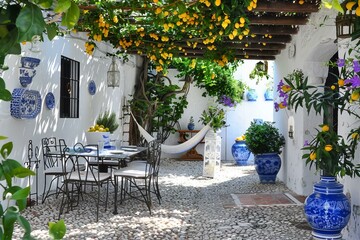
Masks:
[[[80,36],[77,36],[80,37]],[[8,136],[14,144],[11,158],[20,162],[27,161],[28,141],[33,141],[34,147],[41,149],[41,138],[55,136],[64,138],[68,145],[76,142],[84,142],[85,131],[93,125],[98,114],[105,109],[114,111],[120,116],[124,93],[131,93],[135,80],[135,58],[130,57],[130,62],[121,64],[117,61],[122,76],[120,88],[108,88],[106,86],[107,70],[111,59],[99,51],[94,52],[94,57],[89,57],[84,52],[84,41],[74,38],[57,37],[53,41],[46,40],[41,43],[41,52],[29,51],[30,44],[22,45],[21,56],[30,56],[41,59],[36,67],[36,75],[33,81],[26,87],[28,90],[37,90],[42,97],[41,112],[35,119],[16,119],[10,115],[10,102],[0,101],[0,135]],[[101,46],[103,49],[105,45]],[[80,109],[79,118],[60,118],[60,61],[61,55],[80,62]],[[10,91],[14,88],[22,88],[19,82],[19,67],[21,56],[11,55],[5,63],[9,70],[2,74],[6,87]],[[88,83],[94,80],[96,94],[90,95]],[[55,96],[55,107],[47,109],[45,96],[52,92]],[[119,128],[113,138],[120,138]],[[6,141],[2,141],[1,144]],[[41,153],[40,153],[41,154]],[[42,156],[40,156],[42,160]],[[39,168],[39,189],[42,191],[42,166]],[[42,193],[42,192],[41,192]]]

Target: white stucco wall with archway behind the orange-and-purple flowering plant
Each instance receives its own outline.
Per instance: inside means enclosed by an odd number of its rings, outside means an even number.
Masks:
[[[330,17],[325,19],[325,16]],[[325,20],[325,21],[324,21]],[[339,50],[339,56],[343,57],[342,50],[347,50],[347,45],[337,44],[335,33],[335,14],[329,10],[322,9],[318,14],[313,14],[309,24],[300,27],[299,33],[293,37],[292,43],[296,45],[296,55],[288,58],[288,49],[282,51],[275,61],[275,83],[293,69],[302,69],[309,77],[310,84],[324,85],[327,77],[327,69],[324,63]],[[286,146],[283,153],[283,167],[278,177],[294,192],[302,195],[312,193],[313,183],[318,181],[320,173],[315,173],[314,169],[309,170],[301,156],[305,140],[311,139],[315,133],[314,129],[322,123],[322,116],[311,112],[298,109],[282,110],[274,114],[275,121],[283,133],[287,131],[288,118],[295,118],[295,137],[286,139]],[[346,128],[354,120],[347,116],[339,115],[339,133],[346,132]],[[359,162],[359,154],[355,163]],[[350,197],[352,205],[352,215],[350,222],[343,231],[344,239],[359,239],[360,236],[360,189],[358,188],[360,179],[350,179],[345,177],[339,179],[344,184],[344,193]]]

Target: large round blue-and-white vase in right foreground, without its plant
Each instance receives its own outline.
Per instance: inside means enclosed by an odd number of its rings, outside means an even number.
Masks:
[[[348,224],[351,213],[344,186],[335,177],[322,176],[314,192],[304,203],[305,217],[315,239],[342,239],[341,230]]]

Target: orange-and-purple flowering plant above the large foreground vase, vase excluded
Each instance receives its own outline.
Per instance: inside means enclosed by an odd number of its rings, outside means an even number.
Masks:
[[[290,106],[296,111],[298,107],[304,107],[308,113],[313,109],[317,114],[326,116],[329,109],[333,109],[358,118],[354,111],[354,103],[358,103],[360,94],[360,66],[357,60],[339,59],[330,65],[341,68],[337,83],[330,87],[309,85],[308,78],[300,70],[294,70],[281,80],[277,88],[280,100],[275,103],[275,110]],[[306,159],[310,168],[315,165],[316,170],[322,170],[322,174],[327,176],[360,176],[360,165],[352,162],[360,128],[352,129],[345,141],[338,135],[337,126],[324,123],[320,127],[316,136],[303,147],[307,152],[302,158]]]

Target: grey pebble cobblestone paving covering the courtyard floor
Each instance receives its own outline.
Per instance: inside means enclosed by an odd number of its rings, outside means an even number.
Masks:
[[[164,159],[159,183],[162,203],[153,197],[152,215],[134,199],[119,205],[119,214],[114,215],[110,200],[107,211],[100,206],[95,222],[94,202],[86,198],[62,215],[65,239],[311,239],[301,205],[242,207],[234,203],[231,194],[289,192],[281,182],[259,184],[253,166],[224,163],[220,174],[211,179],[202,177],[202,162]],[[49,198],[25,211],[36,239],[50,239],[47,223],[57,220],[59,203],[60,198]],[[14,239],[21,235],[16,227]]]

